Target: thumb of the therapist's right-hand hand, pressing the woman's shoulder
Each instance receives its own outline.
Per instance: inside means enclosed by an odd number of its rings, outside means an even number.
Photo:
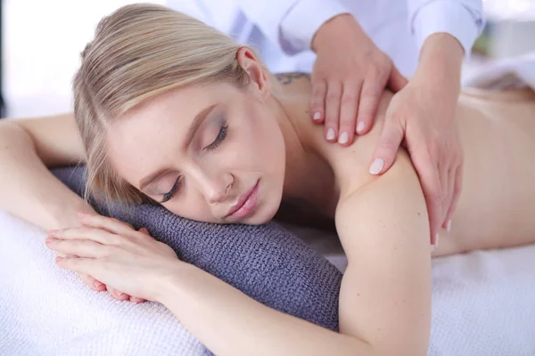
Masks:
[[[383,174],[388,171],[394,162],[394,158],[396,158],[396,153],[398,152],[399,144],[403,140],[404,134],[405,132],[400,124],[400,120],[387,113],[383,125],[383,132],[375,145],[370,174]]]

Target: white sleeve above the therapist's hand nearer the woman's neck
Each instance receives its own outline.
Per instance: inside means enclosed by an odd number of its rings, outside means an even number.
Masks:
[[[309,50],[325,21],[350,11],[337,0],[238,0],[240,9],[285,53]]]

